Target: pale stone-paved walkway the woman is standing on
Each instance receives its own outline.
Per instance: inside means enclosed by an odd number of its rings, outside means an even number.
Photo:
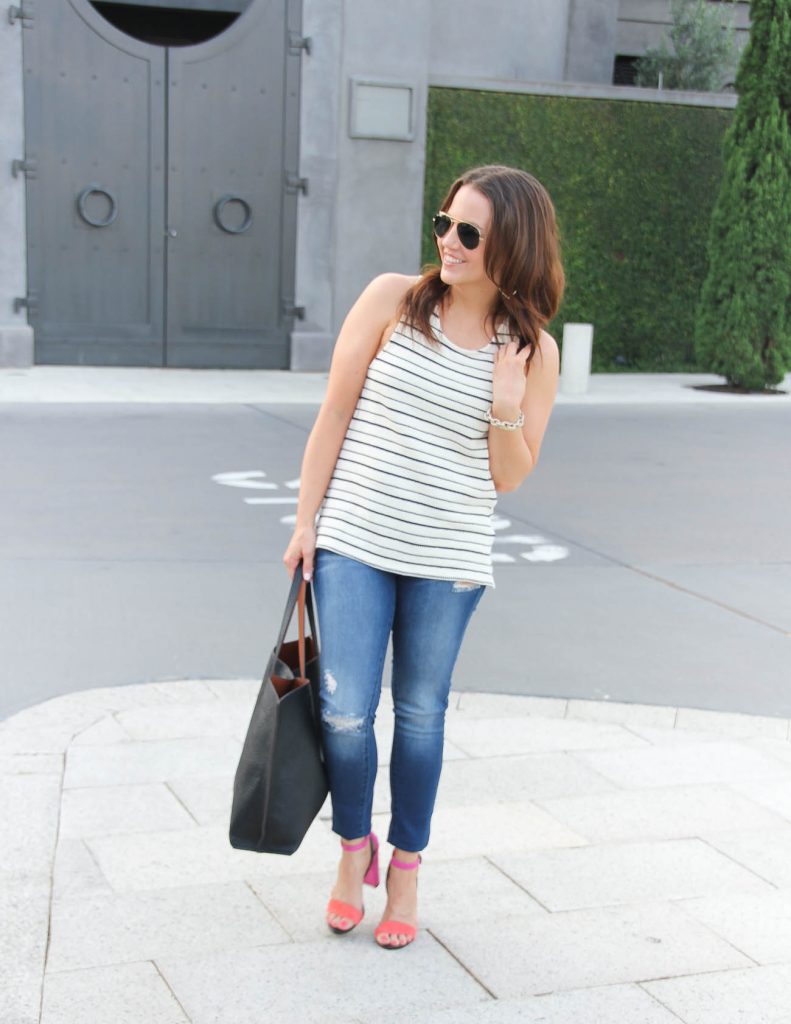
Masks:
[[[290,858],[231,847],[258,686],[0,723],[3,1024],[787,1024],[789,720],[456,696],[420,931],[392,953],[382,888],[353,934],[323,923],[326,816]],[[390,721],[385,691],[384,763]],[[380,769],[380,836],[387,806]]]

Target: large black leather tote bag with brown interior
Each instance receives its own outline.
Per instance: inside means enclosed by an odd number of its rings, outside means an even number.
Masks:
[[[295,605],[299,636],[284,642]],[[300,562],[234,779],[228,837],[237,850],[294,853],[321,810],[328,783],[321,743],[320,678],[313,590],[309,581],[302,580]]]

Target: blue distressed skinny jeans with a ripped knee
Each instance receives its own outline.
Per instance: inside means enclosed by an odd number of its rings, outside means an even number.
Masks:
[[[423,850],[443,762],[453,667],[485,587],[374,568],[319,548],[314,593],[319,616],[321,712],[333,831],[371,830],[377,750],[374,719],[392,633],[394,723],[387,841]]]

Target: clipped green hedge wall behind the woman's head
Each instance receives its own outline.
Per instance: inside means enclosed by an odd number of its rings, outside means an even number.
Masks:
[[[694,316],[732,109],[430,88],[422,258],[461,171],[534,174],[557,211],[567,290],[549,325],[591,323],[593,370],[695,372]]]

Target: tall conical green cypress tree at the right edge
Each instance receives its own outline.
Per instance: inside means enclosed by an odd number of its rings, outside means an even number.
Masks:
[[[752,0],[695,321],[695,354],[760,391],[791,370],[791,0]]]

